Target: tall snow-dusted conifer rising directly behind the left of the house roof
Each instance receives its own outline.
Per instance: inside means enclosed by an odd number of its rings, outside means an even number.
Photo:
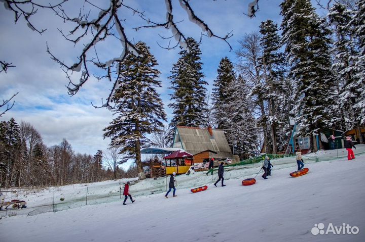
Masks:
[[[200,61],[199,43],[193,38],[187,38],[189,50],[181,48],[180,58],[173,65],[171,76],[170,94],[173,101],[168,105],[172,108],[173,117],[169,124],[169,141],[173,140],[175,128],[178,125],[199,127],[205,126],[206,113],[206,88],[208,83],[203,80],[203,63]]]

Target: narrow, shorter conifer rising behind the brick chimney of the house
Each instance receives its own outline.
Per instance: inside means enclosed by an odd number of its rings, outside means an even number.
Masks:
[[[228,86],[235,80],[236,74],[233,70],[233,64],[228,57],[222,58],[217,69],[217,77],[214,80],[214,88],[212,91],[213,115],[218,123],[219,129],[228,129],[227,114],[225,114],[224,106],[231,102],[231,94]],[[227,130],[229,132],[229,130]]]

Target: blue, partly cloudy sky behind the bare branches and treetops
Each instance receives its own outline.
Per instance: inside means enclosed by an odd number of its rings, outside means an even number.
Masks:
[[[48,2],[48,1],[45,1]],[[108,4],[108,1],[94,1],[95,3]],[[125,1],[127,3],[127,1]],[[165,19],[165,4],[163,0],[128,1],[133,7],[144,10],[152,19]],[[198,17],[203,19],[217,35],[224,36],[233,30],[233,37],[229,42],[233,51],[229,52],[229,46],[222,40],[204,37],[201,44],[203,72],[209,83],[208,90],[216,77],[216,69],[220,60],[228,56],[235,61],[235,50],[238,40],[244,33],[257,31],[260,23],[272,19],[280,23],[281,0],[260,0],[260,11],[257,18],[249,19],[243,15],[247,12],[248,3],[251,0],[204,0],[191,1]],[[80,1],[69,1],[64,8],[77,13],[80,9]],[[175,10],[174,18],[183,22],[179,23],[187,36],[200,38],[200,28],[189,19],[184,11],[181,11],[178,1],[173,1]],[[98,12],[98,11],[97,11]],[[126,31],[130,39],[135,42],[142,40],[151,47],[151,52],[157,58],[158,69],[161,71],[160,79],[163,87],[159,89],[164,101],[168,118],[171,111],[167,109],[169,101],[168,89],[170,82],[167,77],[172,65],[178,59],[179,49],[164,50],[157,45],[164,42],[158,33],[170,36],[170,32],[164,29],[144,29],[135,32],[131,27],[141,22],[138,16],[132,16],[125,12]],[[14,24],[14,14],[0,6],[0,59],[12,62],[16,68],[8,70],[8,73],[0,73],[0,99],[9,98],[19,92],[15,97],[14,108],[0,117],[0,121],[14,117],[18,123],[21,120],[31,123],[43,136],[45,144],[52,146],[66,138],[77,153],[95,154],[98,149],[106,149],[109,140],[102,138],[102,129],[112,121],[111,112],[107,109],[95,109],[93,104],[101,104],[101,98],[105,98],[111,84],[107,81],[98,82],[90,79],[75,96],[67,94],[65,85],[67,80],[59,65],[50,59],[46,53],[46,41],[52,52],[71,65],[77,61],[78,50],[83,46],[70,44],[65,41],[57,28],[69,30],[70,26],[64,24],[54,13],[45,10],[31,18],[35,26],[47,31],[40,35],[29,29],[21,19]],[[119,53],[119,42],[104,44],[98,49],[100,55]]]

